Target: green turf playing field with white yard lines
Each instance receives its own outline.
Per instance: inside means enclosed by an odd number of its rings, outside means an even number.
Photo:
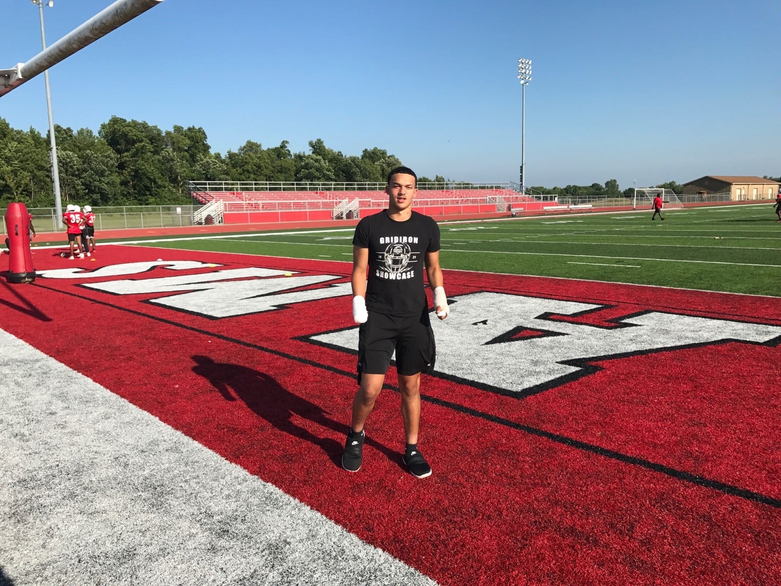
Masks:
[[[764,205],[440,223],[444,269],[781,296],[781,224]],[[353,228],[156,239],[155,246],[351,261]],[[150,242],[152,245],[152,242]]]

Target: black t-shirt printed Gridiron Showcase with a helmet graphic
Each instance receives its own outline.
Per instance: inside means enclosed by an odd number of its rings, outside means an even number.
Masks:
[[[426,309],[426,252],[440,249],[433,219],[412,212],[409,220],[396,222],[383,209],[358,222],[352,243],[369,248],[366,309],[389,316],[419,316]]]

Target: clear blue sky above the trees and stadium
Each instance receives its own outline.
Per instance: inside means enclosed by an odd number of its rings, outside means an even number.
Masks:
[[[110,5],[54,0],[52,44]],[[2,0],[0,69],[40,52],[37,6]],[[526,184],[781,175],[781,2],[163,0],[52,67],[55,123],[203,127],[212,152],[323,138],[420,175]],[[44,76],[0,98],[45,133]]]

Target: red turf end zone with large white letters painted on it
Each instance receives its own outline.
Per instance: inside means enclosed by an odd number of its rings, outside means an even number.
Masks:
[[[779,580],[776,298],[445,271],[419,481],[393,369],[362,469],[338,466],[348,263],[42,252],[0,286],[5,330],[442,584]]]

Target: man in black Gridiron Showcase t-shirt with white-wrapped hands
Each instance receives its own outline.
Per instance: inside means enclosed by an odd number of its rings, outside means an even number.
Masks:
[[[417,176],[408,167],[388,174],[388,208],[358,222],[353,237],[352,315],[358,328],[358,391],[342,467],[358,472],[363,460],[364,426],[383,388],[396,352],[404,463],[413,476],[431,475],[418,449],[420,373],[433,368],[435,347],[423,269],[433,289],[437,317],[448,316],[439,263],[440,231],[428,216],[412,211]],[[366,280],[366,269],[369,279]]]

